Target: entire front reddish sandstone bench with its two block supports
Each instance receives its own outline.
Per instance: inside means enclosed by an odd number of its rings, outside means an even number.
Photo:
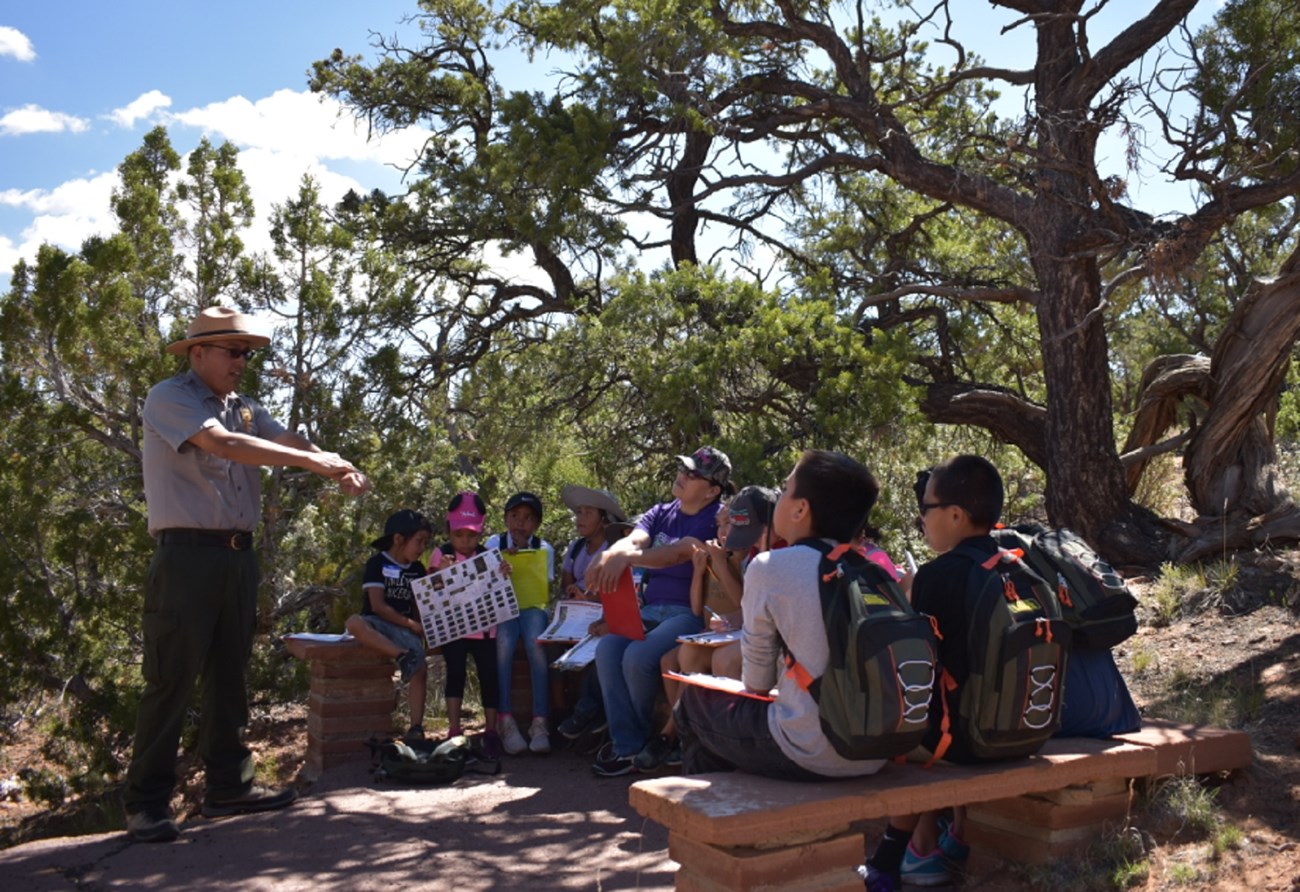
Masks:
[[[1131,783],[1251,763],[1240,731],[1156,719],[1113,740],[1057,739],[985,766],[889,763],[871,778],[798,784],[745,774],[655,778],[628,797],[668,828],[677,889],[861,892],[864,822],[967,805],[976,854],[1046,861],[1086,848],[1130,807]]]

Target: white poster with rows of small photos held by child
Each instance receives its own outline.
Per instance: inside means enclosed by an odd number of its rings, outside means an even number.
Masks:
[[[515,586],[502,573],[502,563],[500,550],[491,549],[411,580],[430,648],[519,616]]]

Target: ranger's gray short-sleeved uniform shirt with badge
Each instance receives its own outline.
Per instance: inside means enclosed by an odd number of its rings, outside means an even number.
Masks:
[[[238,394],[225,399],[192,371],[156,384],[144,400],[144,499],[150,533],[160,529],[246,529],[261,515],[261,467],[207,453],[190,437],[222,426],[274,439],[285,426]]]

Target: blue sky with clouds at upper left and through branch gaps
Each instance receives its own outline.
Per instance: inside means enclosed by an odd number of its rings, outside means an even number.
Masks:
[[[1221,3],[1199,4],[1192,21],[1204,23]],[[1115,8],[1098,17],[1093,46]],[[182,155],[203,135],[239,147],[260,218],[303,173],[326,200],[351,187],[396,187],[393,165],[413,156],[421,134],[367,142],[364,129],[307,91],[307,70],[334,47],[373,59],[370,33],[413,35],[402,18],[415,9],[415,0],[0,0],[0,290],[40,243],[75,250],[112,230],[116,168],[159,124]],[[961,36],[987,59],[1028,59],[1027,27],[1000,35],[1013,13],[965,0],[958,14]],[[1134,13],[1124,4],[1113,17],[1127,23]],[[516,75],[529,79],[554,68],[519,65]],[[1112,152],[1122,157],[1122,146]],[[1157,213],[1186,204],[1186,191],[1160,195],[1167,187],[1158,178],[1130,187]],[[266,247],[260,231],[246,242]]]

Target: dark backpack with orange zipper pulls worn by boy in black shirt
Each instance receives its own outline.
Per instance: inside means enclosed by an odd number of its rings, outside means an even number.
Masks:
[[[1031,755],[1061,728],[1070,627],[1052,586],[1014,551],[989,555],[962,544],[953,553],[971,560],[965,593],[971,674],[957,693],[957,715],[948,716],[952,732],[979,761]],[[944,690],[954,690],[956,680],[942,676]],[[936,759],[948,744],[945,735]]]

